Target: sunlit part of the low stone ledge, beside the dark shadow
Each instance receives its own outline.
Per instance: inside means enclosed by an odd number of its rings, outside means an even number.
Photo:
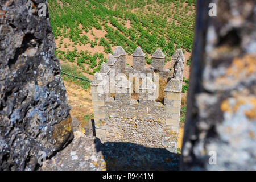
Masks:
[[[106,170],[104,156],[102,152],[97,151],[100,145],[101,142],[96,137],[75,131],[72,142],[53,158],[46,160],[39,170]]]

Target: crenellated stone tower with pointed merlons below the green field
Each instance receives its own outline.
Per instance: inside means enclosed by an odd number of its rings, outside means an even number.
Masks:
[[[133,67],[126,65],[125,55],[121,46],[116,47],[95,73],[91,83],[94,123],[85,125],[86,131],[95,129],[102,142],[131,142],[177,152],[183,52],[175,52],[172,71],[163,68],[165,56],[159,48],[152,55],[152,68],[144,68],[140,47],[133,53]],[[137,98],[131,97],[134,77]],[[159,77],[168,81],[163,104],[155,101]]]

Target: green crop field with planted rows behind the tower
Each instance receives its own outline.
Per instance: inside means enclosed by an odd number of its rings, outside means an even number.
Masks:
[[[104,54],[114,46],[122,46],[131,55],[137,46],[146,53],[146,63],[156,48],[166,54],[166,61],[176,49],[191,52],[195,22],[195,0],[48,0],[48,9],[55,40],[55,54],[61,60],[76,63],[85,73],[93,75],[106,61]],[[129,22],[129,26],[127,26]],[[93,28],[104,31],[101,37]],[[69,39],[71,50],[65,49]],[[77,47],[102,47],[102,52],[77,51]],[[189,57],[187,57],[188,59]]]

